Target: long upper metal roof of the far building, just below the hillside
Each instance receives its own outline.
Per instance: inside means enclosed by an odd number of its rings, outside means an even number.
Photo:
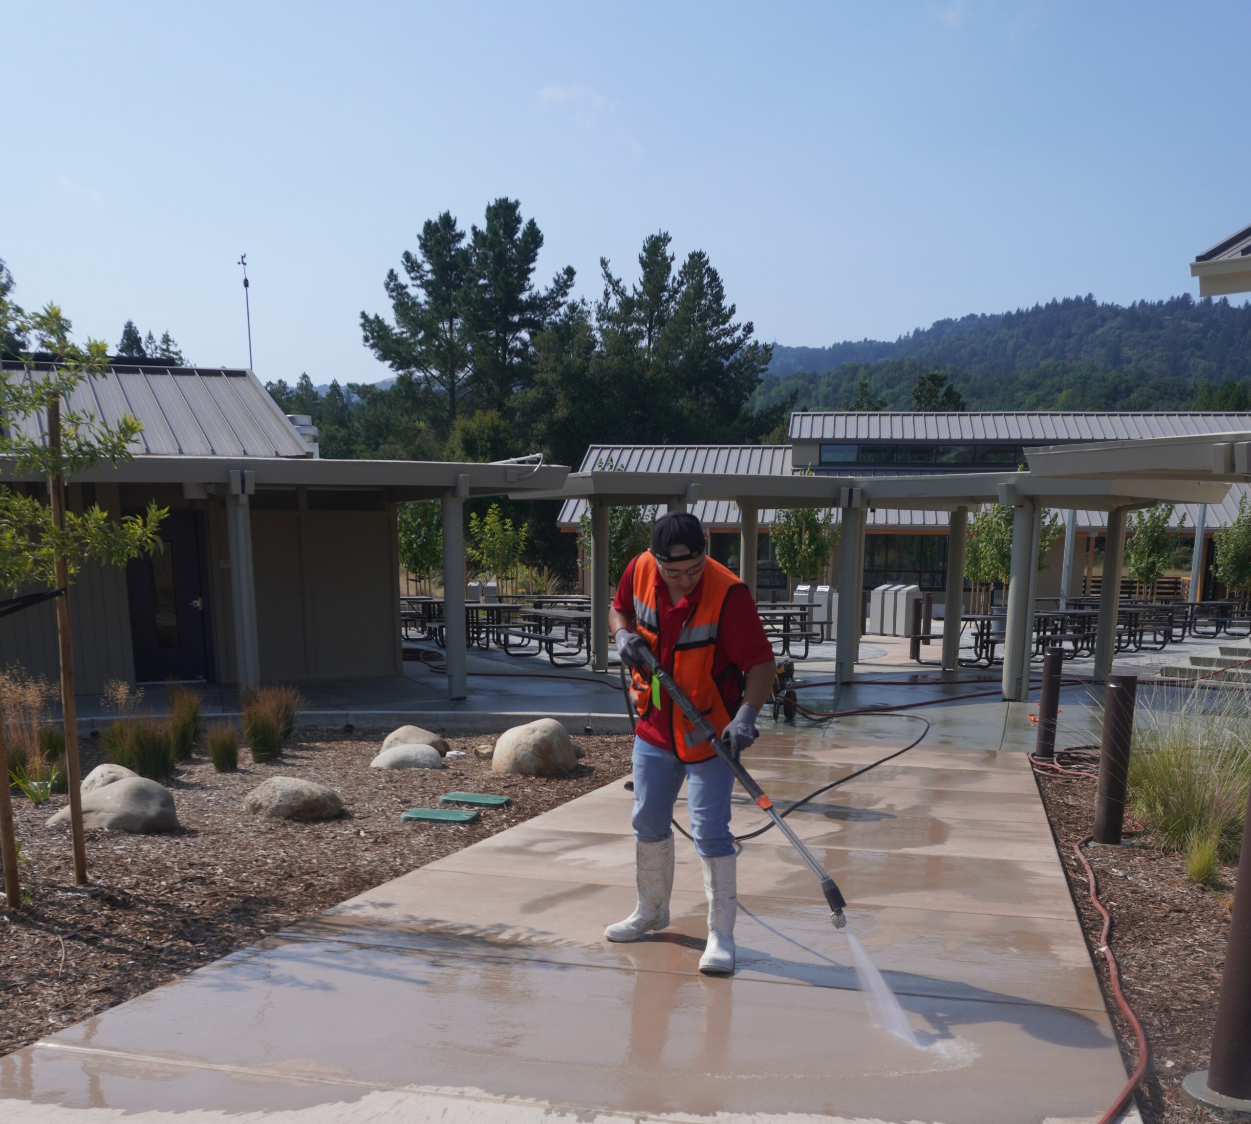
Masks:
[[[1251,413],[853,413],[791,414],[791,441],[1133,441],[1251,428]]]

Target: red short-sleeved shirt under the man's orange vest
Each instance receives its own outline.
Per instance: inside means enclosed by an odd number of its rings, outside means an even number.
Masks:
[[[673,646],[692,611],[699,603],[702,593],[703,582],[701,581],[694,590],[674,605],[669,597],[669,587],[664,585],[659,573],[656,575],[656,597],[661,611],[661,662],[666,667],[673,667]],[[622,616],[634,620],[633,558],[617,586],[613,608]],[[724,698],[726,707],[732,716],[742,698],[742,688],[737,682],[738,676],[726,676],[724,681],[722,681],[722,676],[732,666],[741,675],[746,675],[761,663],[772,663],[773,658],[773,645],[764,635],[764,626],[761,623],[759,613],[756,612],[756,602],[752,600],[751,592],[747,586],[734,586],[726,595],[726,603],[721,610],[721,621],[717,625],[717,646],[712,661],[713,678],[722,682],[722,698]],[[669,736],[669,731],[673,728],[669,721],[672,706],[669,696],[662,691],[661,708],[657,710],[649,705],[647,713],[639,718],[634,732],[653,746],[672,751],[673,740]]]

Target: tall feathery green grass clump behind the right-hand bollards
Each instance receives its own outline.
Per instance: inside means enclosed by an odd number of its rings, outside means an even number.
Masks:
[[[1130,805],[1147,836],[1186,856],[1196,882],[1235,862],[1251,791],[1251,691],[1187,687],[1140,696]]]

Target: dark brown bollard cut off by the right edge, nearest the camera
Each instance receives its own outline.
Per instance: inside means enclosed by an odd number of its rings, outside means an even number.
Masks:
[[[1212,1060],[1182,1081],[1182,1091],[1208,1108],[1251,1111],[1251,800],[1242,826],[1238,881],[1216,1001]],[[1213,1095],[1215,1094],[1215,1095]]]

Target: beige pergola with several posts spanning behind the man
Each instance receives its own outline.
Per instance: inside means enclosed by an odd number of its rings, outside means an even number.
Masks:
[[[1091,478],[1041,478],[1030,472],[967,473],[960,476],[791,476],[747,473],[620,472],[600,469],[570,473],[564,486],[529,498],[584,499],[590,507],[592,536],[592,657],[597,671],[608,670],[608,512],[614,506],[666,504],[686,511],[697,499],[729,499],[742,513],[741,577],[754,586],[757,512],[761,508],[814,507],[837,509],[842,523],[839,588],[854,597],[839,597],[836,630],[838,682],[854,680],[861,640],[861,586],[864,566],[866,516],[871,509],[937,509],[951,513],[947,565],[947,603],[961,605],[965,583],[965,547],[968,513],[987,503],[1013,508],[1012,570],[1007,595],[1007,633],[1003,658],[1003,697],[1023,700],[1030,686],[1030,645],[1038,534],[1047,507],[1107,511],[1108,557],[1115,573],[1105,577],[1105,590],[1120,586],[1120,557],[1125,542],[1125,517],[1133,508],[1158,502],[1216,503],[1228,484],[1215,479],[1122,478],[1115,471]],[[520,497],[518,497],[520,498]],[[1106,678],[1116,638],[1117,597],[1101,602],[1096,640],[1097,678]],[[960,656],[961,613],[945,613],[942,668],[955,672]]]

